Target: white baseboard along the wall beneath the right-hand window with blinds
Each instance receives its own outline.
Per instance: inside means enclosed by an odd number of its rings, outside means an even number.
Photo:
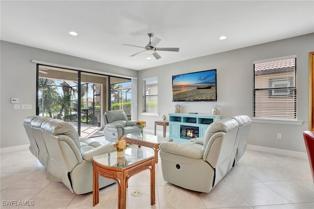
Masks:
[[[262,147],[262,146],[257,146],[257,145],[248,144],[246,146],[246,149],[265,152],[265,153],[272,153],[272,154],[277,154],[277,155],[283,155],[283,156],[289,156],[289,157],[300,157],[300,158],[305,158],[305,159],[308,158],[307,153],[296,152],[296,151],[291,151],[291,150],[281,150],[281,149],[270,148],[270,147]]]

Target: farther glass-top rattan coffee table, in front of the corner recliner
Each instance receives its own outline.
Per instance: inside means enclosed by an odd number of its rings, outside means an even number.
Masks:
[[[165,141],[172,141],[172,139],[169,138],[155,136],[147,133],[144,133],[143,137],[141,137],[139,133],[129,133],[126,135],[126,140],[131,141],[132,144],[153,148],[155,151],[156,163],[158,163],[159,144]]]

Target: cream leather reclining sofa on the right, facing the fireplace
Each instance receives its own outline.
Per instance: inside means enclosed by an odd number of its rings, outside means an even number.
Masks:
[[[209,193],[234,165],[238,130],[238,122],[228,118],[211,123],[205,136],[194,142],[162,142],[159,149],[164,181]],[[246,142],[247,135],[240,138]],[[243,147],[238,157],[242,157]]]

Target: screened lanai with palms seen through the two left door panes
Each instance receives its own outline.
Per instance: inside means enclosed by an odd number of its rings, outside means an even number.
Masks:
[[[82,137],[103,135],[101,86],[81,83],[80,132]],[[78,128],[78,82],[39,78],[39,115],[71,122]]]

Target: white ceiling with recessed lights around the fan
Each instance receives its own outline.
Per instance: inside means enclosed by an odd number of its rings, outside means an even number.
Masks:
[[[134,70],[314,32],[314,0],[1,0],[0,7],[1,40]],[[122,44],[144,47],[149,32],[162,39],[157,47],[180,51],[130,57],[142,49]]]

